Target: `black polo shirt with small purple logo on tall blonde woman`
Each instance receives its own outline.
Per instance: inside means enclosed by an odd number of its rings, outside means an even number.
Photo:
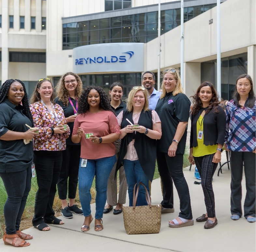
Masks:
[[[157,140],[157,151],[168,153],[172,144],[179,122],[189,120],[191,102],[185,94],[173,96],[173,92],[167,93],[163,99],[159,99],[156,105],[156,112],[162,122],[162,137]],[[187,140],[187,129],[181,137],[177,154],[184,154]]]

